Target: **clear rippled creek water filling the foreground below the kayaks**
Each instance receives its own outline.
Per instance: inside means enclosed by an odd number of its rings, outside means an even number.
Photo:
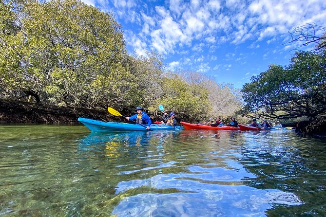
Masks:
[[[0,132],[0,216],[326,216],[326,141],[290,130]]]

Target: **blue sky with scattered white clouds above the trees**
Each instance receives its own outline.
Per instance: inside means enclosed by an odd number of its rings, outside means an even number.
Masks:
[[[172,71],[202,72],[235,88],[269,64],[288,65],[300,44],[284,43],[296,26],[326,27],[326,0],[83,1],[113,13],[130,54],[156,51]]]

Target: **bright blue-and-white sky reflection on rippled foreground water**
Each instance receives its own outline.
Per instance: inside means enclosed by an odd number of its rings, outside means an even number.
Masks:
[[[243,175],[252,174],[223,168],[190,167],[192,173],[157,175],[145,180],[121,181],[116,194],[143,186],[174,189],[179,192],[137,194],[119,202],[112,214],[118,216],[265,216],[272,204],[300,205],[292,193],[274,189],[256,189],[239,185]],[[228,173],[230,175],[221,175]],[[237,175],[237,174],[242,175]],[[209,176],[207,174],[210,174]],[[195,179],[194,179],[195,178]],[[216,183],[219,180],[220,183]],[[222,184],[224,182],[224,184]]]

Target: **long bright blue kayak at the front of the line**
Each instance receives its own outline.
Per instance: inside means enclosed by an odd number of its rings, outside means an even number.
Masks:
[[[92,131],[149,131],[146,129],[147,125],[142,127],[138,124],[127,124],[118,122],[103,122],[96,121],[87,118],[78,118],[78,121],[88,127]],[[179,127],[171,127],[168,125],[156,125],[150,126],[152,130],[180,130]]]

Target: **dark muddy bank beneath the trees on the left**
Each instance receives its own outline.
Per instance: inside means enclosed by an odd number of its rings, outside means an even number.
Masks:
[[[105,109],[56,107],[39,103],[0,100],[0,123],[79,124],[78,117],[121,121]]]

